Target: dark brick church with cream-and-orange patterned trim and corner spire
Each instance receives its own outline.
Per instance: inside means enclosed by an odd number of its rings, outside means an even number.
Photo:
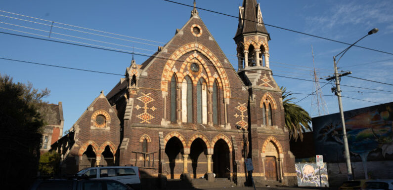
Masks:
[[[157,182],[216,177],[244,185],[244,161],[252,158],[256,184],[295,185],[260,4],[244,0],[239,17],[238,71],[194,7],[165,46],[140,65],[132,60],[125,77],[52,145],[62,171],[136,165],[142,178]]]

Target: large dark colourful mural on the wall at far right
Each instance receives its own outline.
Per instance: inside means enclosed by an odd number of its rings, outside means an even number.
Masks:
[[[393,160],[393,102],[344,112],[351,161]],[[339,113],[312,118],[315,153],[326,162],[345,162]]]

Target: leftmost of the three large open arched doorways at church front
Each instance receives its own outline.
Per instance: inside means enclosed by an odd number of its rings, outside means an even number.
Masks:
[[[177,137],[172,137],[165,146],[165,162],[169,165],[170,171],[169,176],[167,178],[175,179],[180,178],[180,174],[183,171],[182,164],[176,164],[176,162],[182,161],[183,154],[183,144]]]

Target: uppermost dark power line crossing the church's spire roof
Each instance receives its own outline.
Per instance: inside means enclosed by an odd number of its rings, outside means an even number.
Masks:
[[[192,5],[188,5],[188,4],[184,4],[184,3],[180,3],[180,2],[176,2],[176,1],[172,1],[172,0],[164,0],[164,1],[172,2],[172,3],[184,5],[184,6],[194,7]],[[206,8],[200,8],[200,7],[195,7],[195,8],[201,9],[201,10],[205,10],[205,11],[209,11],[209,12],[213,12],[213,13],[217,13],[217,14],[221,14],[221,15],[224,15],[224,16],[229,16],[229,17],[240,19],[237,16],[233,16],[233,15],[230,15],[230,14],[217,12],[217,11],[214,11],[214,10],[209,10],[209,9],[206,9]],[[255,22],[253,20],[248,20],[248,19],[244,19],[244,18],[242,18],[242,19],[243,20],[247,20],[247,21],[251,21],[251,22]],[[255,23],[258,23],[258,22],[255,22]],[[281,30],[286,30],[286,31],[290,31],[290,32],[294,32],[294,33],[298,33],[298,34],[314,37],[314,38],[321,38],[321,39],[326,39],[326,40],[329,40],[329,41],[334,41],[334,42],[337,42],[337,43],[343,43],[343,44],[351,45],[351,43],[347,43],[347,42],[343,42],[343,41],[339,41],[339,40],[335,40],[335,39],[330,39],[330,38],[320,37],[320,36],[316,36],[316,35],[311,35],[311,34],[307,34],[307,33],[304,33],[304,32],[299,32],[299,31],[295,31],[295,30],[292,30],[292,29],[287,29],[287,28],[283,28],[283,27],[279,27],[279,26],[275,26],[275,25],[271,25],[271,24],[266,24],[266,23],[263,23],[263,24],[266,25],[266,26],[271,26],[271,27],[278,28],[278,29],[281,29]],[[377,52],[380,52],[380,53],[386,53],[386,54],[393,55],[393,53],[386,52],[386,51],[381,51],[381,50],[372,49],[372,48],[363,47],[363,46],[358,46],[358,45],[353,45],[353,46],[360,47],[360,48],[363,48],[363,49],[372,50],[372,51],[377,51]]]

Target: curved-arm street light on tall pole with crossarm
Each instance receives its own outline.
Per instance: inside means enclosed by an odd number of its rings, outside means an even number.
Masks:
[[[343,112],[343,103],[341,102],[341,89],[340,89],[340,79],[339,77],[341,76],[346,76],[351,74],[351,72],[347,72],[347,73],[343,73],[343,74],[339,74],[337,71],[337,64],[339,63],[340,59],[344,56],[345,53],[347,53],[347,51],[349,50],[349,48],[351,48],[355,43],[357,43],[358,41],[360,41],[363,38],[366,38],[369,35],[375,34],[377,33],[379,30],[377,28],[374,28],[373,30],[371,30],[370,32],[367,33],[366,36],[360,38],[359,40],[357,40],[356,42],[352,43],[349,47],[347,47],[346,49],[344,49],[343,51],[341,51],[339,54],[337,54],[336,56],[333,56],[333,61],[334,61],[334,76],[326,78],[326,80],[331,80],[331,79],[335,79],[336,80],[336,95],[337,98],[339,100],[339,108],[340,108],[340,114],[341,114],[341,122],[343,123],[343,135],[344,135],[344,149],[345,149],[345,157],[347,159],[347,170],[348,170],[348,180],[352,180],[352,167],[350,165],[350,155],[349,155],[349,147],[348,147],[348,138],[347,138],[347,129],[345,127],[345,119],[344,119],[344,112]],[[339,58],[339,60],[336,63],[336,57],[339,56],[340,54],[342,54]],[[366,177],[367,178],[367,177]]]

